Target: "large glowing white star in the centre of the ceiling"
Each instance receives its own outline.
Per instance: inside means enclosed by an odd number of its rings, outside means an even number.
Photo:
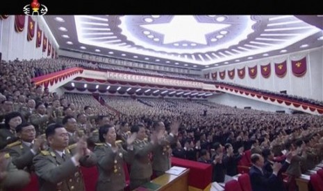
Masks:
[[[206,45],[208,43],[206,41],[206,35],[231,25],[199,23],[194,16],[179,15],[174,16],[172,21],[166,24],[146,24],[141,26],[148,30],[154,30],[156,33],[163,34],[163,44],[188,41]]]

